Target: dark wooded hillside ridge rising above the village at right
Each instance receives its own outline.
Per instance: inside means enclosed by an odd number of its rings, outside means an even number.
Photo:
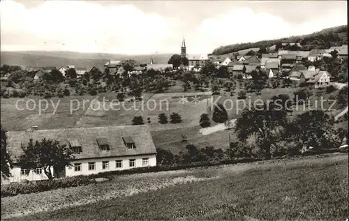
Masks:
[[[276,40],[261,40],[256,43],[226,45],[214,49],[212,54],[228,54],[251,47],[270,47],[277,43],[301,43],[306,50],[348,45],[348,25],[335,26],[303,36],[290,36]]]

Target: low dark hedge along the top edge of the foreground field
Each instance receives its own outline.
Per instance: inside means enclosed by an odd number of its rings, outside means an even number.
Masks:
[[[302,155],[318,155],[323,153],[348,153],[348,149],[323,149],[320,151],[307,151]],[[287,158],[285,156],[283,158]],[[142,174],[150,172],[166,172],[170,170],[189,169],[194,167],[209,167],[217,165],[230,165],[236,163],[257,162],[262,161],[261,158],[240,158],[240,159],[228,159],[220,161],[207,161],[207,162],[191,162],[187,165],[156,165],[155,167],[139,167],[128,170],[110,171],[99,174],[91,174],[89,176],[71,176],[66,178],[59,178],[54,180],[37,181],[36,183],[11,183],[9,185],[1,185],[1,197],[11,197],[19,194],[28,194],[34,192],[44,192],[48,190],[57,190],[60,188],[71,188],[80,185],[89,185],[96,183],[95,178],[109,178],[112,179],[117,175],[129,175],[129,174]]]

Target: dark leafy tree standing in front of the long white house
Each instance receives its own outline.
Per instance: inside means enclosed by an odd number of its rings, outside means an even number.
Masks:
[[[50,180],[53,178],[52,169],[59,171],[70,166],[70,161],[74,159],[71,148],[52,139],[44,138],[40,142],[30,139],[27,146],[22,145],[22,149],[24,153],[20,156],[18,165],[23,169],[42,168]]]

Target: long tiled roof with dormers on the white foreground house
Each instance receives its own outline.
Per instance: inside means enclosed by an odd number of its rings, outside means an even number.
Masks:
[[[55,139],[60,144],[69,144],[68,140],[77,139],[82,152],[75,159],[108,158],[123,155],[155,154],[156,149],[147,125],[124,125],[98,128],[62,128],[56,130],[8,131],[8,152],[11,157],[22,155],[21,144],[26,146],[29,139],[41,141],[43,138]],[[137,148],[125,147],[122,137],[133,137]],[[109,151],[101,151],[97,139],[106,138]],[[102,142],[102,141],[101,141]]]

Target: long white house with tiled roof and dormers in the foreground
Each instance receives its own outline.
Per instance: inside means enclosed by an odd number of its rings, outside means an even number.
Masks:
[[[73,150],[75,158],[64,168],[65,176],[156,166],[156,148],[147,125],[8,131],[6,135],[7,151],[13,158],[13,176],[4,181],[8,183],[47,179],[42,168],[28,171],[16,164],[16,157],[23,153],[21,144],[28,144],[29,139],[54,139]]]

